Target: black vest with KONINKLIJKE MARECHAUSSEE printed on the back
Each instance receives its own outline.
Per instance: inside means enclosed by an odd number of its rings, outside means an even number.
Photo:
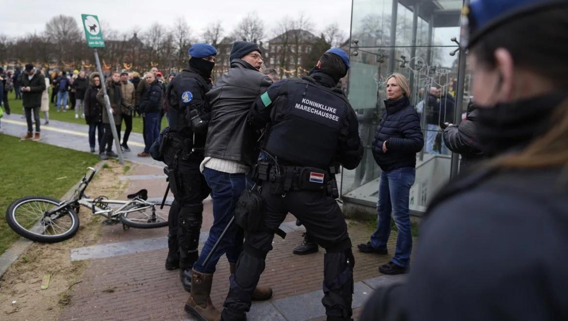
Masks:
[[[349,104],[331,89],[307,80],[290,80],[286,86],[274,101],[275,124],[264,148],[289,164],[328,170]]]

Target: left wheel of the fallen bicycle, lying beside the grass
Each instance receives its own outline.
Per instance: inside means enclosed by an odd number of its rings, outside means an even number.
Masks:
[[[72,206],[44,215],[59,203],[55,198],[44,196],[20,198],[6,210],[6,222],[14,232],[32,241],[55,243],[69,239],[79,229],[79,216]]]

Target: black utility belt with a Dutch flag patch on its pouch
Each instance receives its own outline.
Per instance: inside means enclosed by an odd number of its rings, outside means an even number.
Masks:
[[[325,191],[333,198],[339,198],[335,179],[336,166],[329,171],[315,167],[278,166],[271,161],[259,161],[254,165],[252,180],[261,184],[269,182],[271,194],[285,195],[288,191]]]

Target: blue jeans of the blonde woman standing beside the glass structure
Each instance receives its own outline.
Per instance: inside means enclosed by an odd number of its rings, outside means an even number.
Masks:
[[[396,237],[396,251],[391,261],[404,267],[410,264],[410,252],[412,251],[408,198],[415,177],[416,169],[414,167],[403,167],[382,172],[379,180],[379,201],[377,202],[379,215],[377,231],[371,235],[371,245],[374,248],[386,248],[391,230],[392,213],[392,218],[394,218],[394,223],[398,228],[398,237]]]

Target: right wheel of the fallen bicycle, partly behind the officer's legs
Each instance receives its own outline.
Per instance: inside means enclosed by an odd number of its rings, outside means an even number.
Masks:
[[[168,216],[172,202],[165,202],[164,208],[160,210],[161,201],[148,201],[153,206],[144,204],[134,205],[125,210],[139,210],[122,213],[119,216],[120,222],[135,228],[158,228],[168,226]]]

